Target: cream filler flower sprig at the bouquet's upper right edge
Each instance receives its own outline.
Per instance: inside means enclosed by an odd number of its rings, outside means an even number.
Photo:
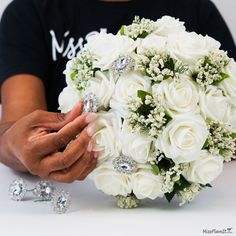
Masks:
[[[229,77],[224,73],[224,68],[229,64],[229,61],[230,59],[224,51],[210,52],[197,62],[192,78],[202,88],[218,85]]]

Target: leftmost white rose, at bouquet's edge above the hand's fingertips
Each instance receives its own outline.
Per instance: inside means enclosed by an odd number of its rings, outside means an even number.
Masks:
[[[67,113],[71,111],[75,104],[81,99],[82,95],[80,91],[78,91],[74,86],[67,86],[58,97],[58,109],[63,113]]]

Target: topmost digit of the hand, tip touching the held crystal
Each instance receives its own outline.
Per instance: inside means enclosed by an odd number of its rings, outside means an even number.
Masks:
[[[69,122],[73,121],[76,117],[80,116],[82,111],[82,102],[77,103],[74,108],[66,114],[37,110],[31,114],[30,121],[34,124],[34,127],[59,130]]]

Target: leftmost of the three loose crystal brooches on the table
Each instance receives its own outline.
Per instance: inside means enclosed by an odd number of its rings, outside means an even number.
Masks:
[[[9,195],[14,201],[21,201],[26,191],[26,183],[23,179],[15,179],[9,186]]]

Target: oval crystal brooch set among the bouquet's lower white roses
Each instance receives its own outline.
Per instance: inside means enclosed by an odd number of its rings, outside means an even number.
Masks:
[[[137,169],[137,163],[130,157],[121,156],[113,161],[114,169],[120,173],[130,175]]]

